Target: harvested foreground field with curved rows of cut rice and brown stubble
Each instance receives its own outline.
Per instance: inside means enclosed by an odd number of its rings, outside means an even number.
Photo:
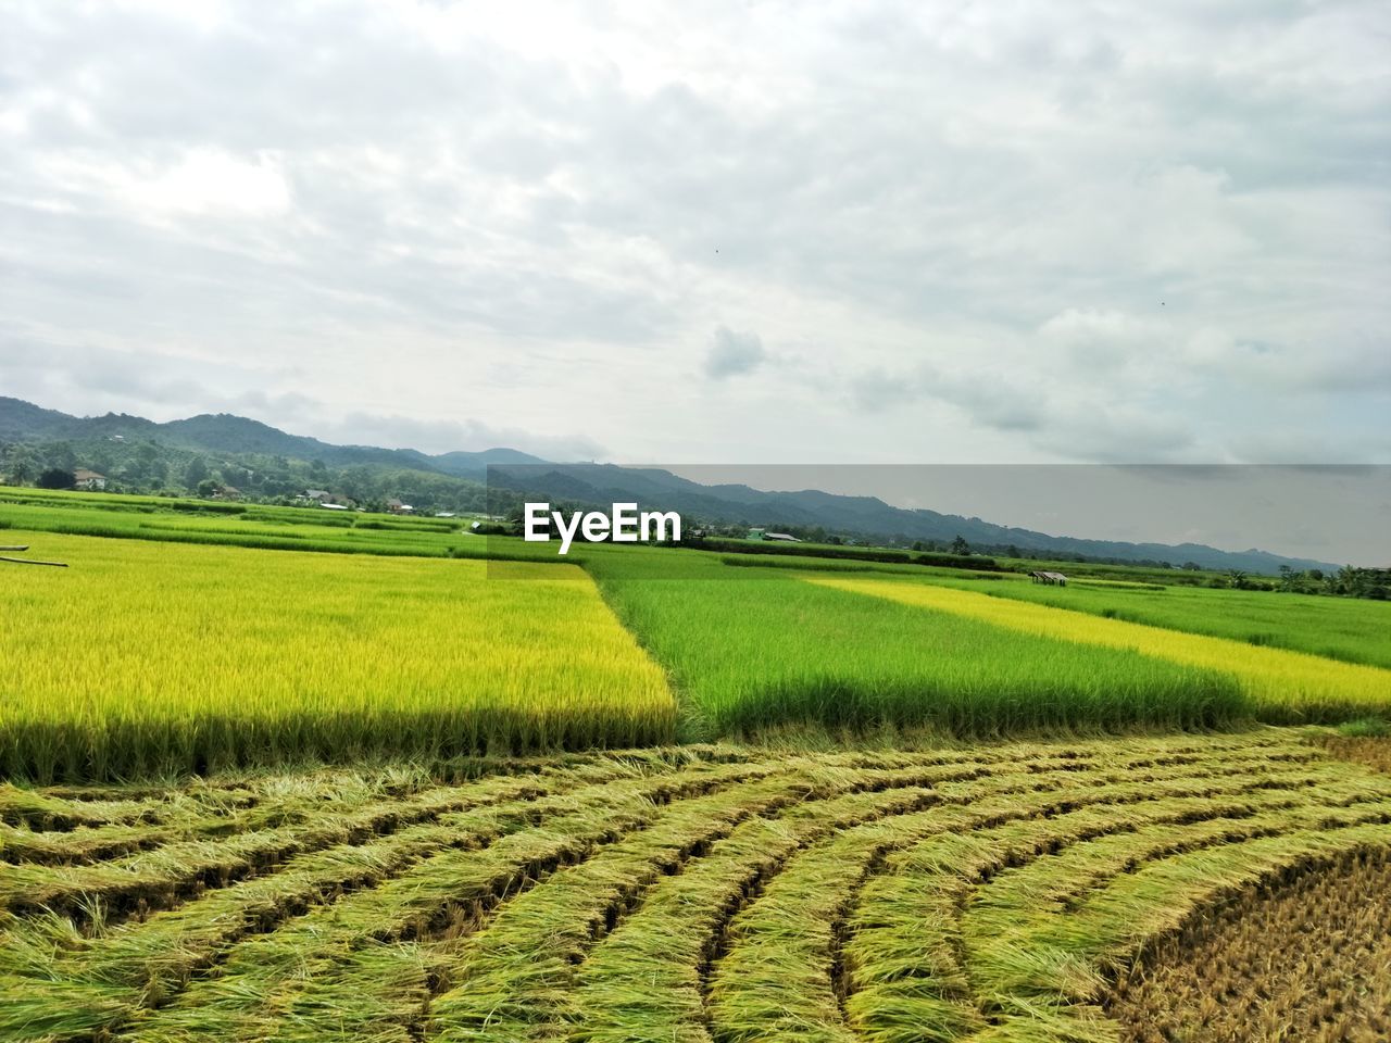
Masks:
[[[0,1039],[1385,1037],[1391,776],[1305,734],[485,766],[0,789]]]

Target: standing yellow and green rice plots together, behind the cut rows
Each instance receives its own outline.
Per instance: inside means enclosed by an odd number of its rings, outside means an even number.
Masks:
[[[0,776],[15,779],[1391,709],[1377,668],[689,551],[533,565],[8,531],[74,565],[0,570],[0,608],[22,620],[0,631]]]

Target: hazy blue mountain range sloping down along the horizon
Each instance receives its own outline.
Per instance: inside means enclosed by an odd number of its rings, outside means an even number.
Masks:
[[[230,413],[200,414],[154,423],[125,413],[75,417],[0,396],[0,442],[88,441],[121,435],[147,438],[170,446],[216,453],[267,453],[299,460],[323,460],[331,467],[377,464],[433,471],[497,485],[551,501],[609,505],[634,501],[644,508],[677,510],[709,522],[765,527],[821,527],[833,533],[900,540],[951,541],[1008,547],[1053,555],[1085,555],[1118,560],[1193,562],[1205,569],[1242,569],[1273,574],[1281,565],[1295,569],[1335,569],[1327,562],[1285,558],[1266,551],[1220,551],[1205,544],[1131,544],[1050,535],[997,526],[960,515],[894,508],[875,496],[842,496],[817,490],[765,492],[748,485],[701,485],[670,471],[601,463],[549,463],[516,449],[430,455],[415,449],[334,445],[292,435]]]

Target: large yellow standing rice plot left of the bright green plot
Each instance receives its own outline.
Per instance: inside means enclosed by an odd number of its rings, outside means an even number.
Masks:
[[[24,534],[6,566],[0,773],[88,780],[300,759],[669,740],[662,672],[574,567]]]

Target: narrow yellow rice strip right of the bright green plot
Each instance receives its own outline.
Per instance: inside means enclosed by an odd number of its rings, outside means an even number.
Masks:
[[[1391,670],[1376,666],[1102,619],[936,584],[822,576],[807,581],[1079,647],[1128,649],[1188,668],[1217,670],[1235,679],[1255,715],[1270,723],[1391,716]]]

